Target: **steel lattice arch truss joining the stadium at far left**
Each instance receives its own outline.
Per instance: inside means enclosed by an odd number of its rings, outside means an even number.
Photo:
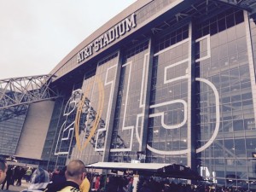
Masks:
[[[0,80],[0,121],[26,113],[32,102],[60,97],[49,87],[51,80],[49,74]]]

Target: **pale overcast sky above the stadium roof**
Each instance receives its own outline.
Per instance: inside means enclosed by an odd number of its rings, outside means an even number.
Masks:
[[[48,74],[136,0],[0,0],[0,79]]]

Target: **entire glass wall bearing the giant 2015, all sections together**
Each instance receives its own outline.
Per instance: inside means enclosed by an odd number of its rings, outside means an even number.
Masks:
[[[154,34],[152,74],[148,74],[151,40],[124,45],[121,57],[115,53],[99,61],[82,83],[73,85],[61,109],[61,131],[55,137],[57,164],[78,158],[85,164],[95,163],[103,160],[108,148],[109,162],[132,162],[145,150],[143,133],[148,129],[145,162],[188,166],[190,148],[195,147],[201,176],[218,184],[249,187],[251,183],[245,181],[256,178],[256,132],[255,77],[248,59],[251,42],[246,22],[243,11],[229,9],[204,21],[195,20],[193,27]],[[253,22],[250,25],[254,34]],[[191,52],[191,33],[195,53]],[[255,35],[253,47],[254,43]],[[195,126],[190,119],[192,102]],[[106,146],[109,129],[111,142]],[[190,146],[194,135],[190,131],[195,132],[194,146]]]

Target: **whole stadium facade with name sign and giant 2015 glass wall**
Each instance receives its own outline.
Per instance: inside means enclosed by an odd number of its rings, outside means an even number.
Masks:
[[[49,89],[60,96],[0,122],[0,154],[48,169],[78,158],[179,164],[250,187],[255,9],[243,0],[133,3],[52,70]]]

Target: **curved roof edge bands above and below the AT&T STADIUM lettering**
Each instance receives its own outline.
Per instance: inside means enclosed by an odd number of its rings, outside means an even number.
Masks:
[[[207,1],[207,0],[205,0],[205,1]],[[236,0],[234,0],[234,1],[236,1]],[[241,1],[247,1],[247,0],[241,0]],[[132,15],[133,13],[136,13],[139,9],[142,9],[144,6],[146,6],[148,3],[151,3],[151,2],[153,2],[153,0],[139,0],[139,1],[135,2],[135,3],[132,3],[128,8],[124,9],[123,11],[121,11],[118,15],[115,15],[111,20],[108,20],[108,22],[106,22],[103,26],[98,28],[95,32],[92,32],[88,38],[85,38],[84,41],[82,41],[69,54],[67,54],[54,67],[54,69],[50,73],[51,74],[56,74],[59,70],[61,70],[61,67],[66,65],[68,61],[70,61],[76,55],[78,55],[78,53],[82,49],[86,48],[86,46],[88,46],[89,44],[94,42],[96,40],[96,38],[99,38],[100,36],[102,36],[102,34],[104,34],[104,32],[108,32],[108,30],[111,27],[117,25],[120,21],[124,20],[129,15]],[[186,7],[188,7],[191,4],[196,3],[196,2],[200,2],[200,0],[175,0],[175,1],[173,1],[172,4],[170,4],[171,6],[166,6],[166,8],[160,10],[159,13],[156,13],[156,14],[150,16],[150,18],[148,18],[148,20],[144,20],[143,23],[140,23],[139,25],[137,25],[137,27],[135,29],[133,29],[133,32],[131,32],[130,34],[125,34],[124,36],[119,37],[119,40],[115,41],[114,44],[112,44],[112,45],[110,45],[108,47],[104,47],[103,49],[100,49],[99,51],[97,51],[97,53],[94,56],[88,57],[88,59],[86,59],[86,61],[85,60],[80,61],[78,67],[84,65],[84,63],[90,63],[90,61],[93,61],[92,58],[96,59],[97,56],[102,55],[102,53],[105,52],[105,50],[107,50],[108,48],[110,48],[110,47],[114,48],[114,47],[118,46],[118,44],[123,42],[123,40],[125,38],[127,38],[128,36],[130,36],[130,35],[134,36],[134,34],[138,34],[139,31],[141,32],[142,28],[144,28],[144,30],[145,30],[147,28],[145,26],[148,25],[148,24],[145,24],[145,23],[146,22],[148,22],[148,23],[155,23],[154,20],[159,20],[160,19],[160,18],[157,18],[158,15],[161,15],[161,16],[166,15],[166,12],[168,12],[170,9],[172,9],[172,12],[169,12],[169,15],[170,15],[170,13],[172,13],[172,15],[175,15],[179,11],[182,11]],[[223,4],[226,4],[226,5],[230,5],[230,6],[234,6],[233,4],[230,4],[230,3],[224,3],[225,0],[217,0],[216,2],[223,3]],[[236,6],[236,7],[238,7],[238,6]],[[240,7],[240,9],[242,9],[242,8]],[[116,45],[116,46],[114,46],[114,45]],[[73,70],[73,69],[74,68],[72,68],[71,70]],[[70,73],[70,72],[71,71],[69,71],[67,73]],[[56,76],[55,80],[61,79],[61,77],[63,77],[67,73],[61,74],[60,76]]]

